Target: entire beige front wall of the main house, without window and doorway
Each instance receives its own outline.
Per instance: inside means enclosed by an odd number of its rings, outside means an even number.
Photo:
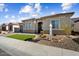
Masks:
[[[42,24],[42,29],[46,32],[49,33],[49,24],[52,20],[60,20],[60,25],[59,29],[54,29],[53,33],[56,34],[71,34],[71,15],[60,15],[56,17],[51,17],[51,18],[45,18],[45,19],[39,19],[37,20],[37,23],[34,23],[34,20],[27,20],[24,22],[23,25],[23,31],[24,32],[35,32],[38,30],[38,22],[43,22]],[[26,24],[31,24],[31,28],[26,28]],[[57,32],[58,31],[58,32]]]

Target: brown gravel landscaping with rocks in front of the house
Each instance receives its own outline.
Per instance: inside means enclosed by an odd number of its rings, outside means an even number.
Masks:
[[[77,38],[77,40],[79,40],[79,38]],[[40,40],[37,43],[79,52],[79,42],[78,41],[76,42],[76,41],[70,37],[65,37],[63,35],[60,35],[60,36],[55,36],[51,41]]]

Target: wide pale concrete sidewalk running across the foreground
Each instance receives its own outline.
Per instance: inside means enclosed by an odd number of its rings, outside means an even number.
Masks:
[[[0,36],[0,48],[13,56],[77,56],[79,52]]]

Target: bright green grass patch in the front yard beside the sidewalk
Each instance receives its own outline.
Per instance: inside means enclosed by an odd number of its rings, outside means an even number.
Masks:
[[[13,35],[9,35],[7,37],[19,39],[19,40],[23,40],[23,41],[31,41],[31,40],[33,40],[35,35],[13,34]]]

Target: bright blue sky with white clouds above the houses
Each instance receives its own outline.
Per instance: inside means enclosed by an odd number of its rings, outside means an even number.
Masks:
[[[79,3],[0,3],[0,24],[66,12],[79,17]]]

